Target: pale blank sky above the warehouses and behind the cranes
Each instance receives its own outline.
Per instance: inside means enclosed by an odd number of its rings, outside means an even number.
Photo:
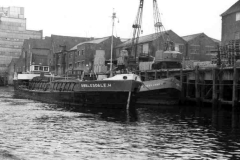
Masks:
[[[221,40],[221,14],[238,0],[158,0],[166,30],[179,36],[205,33]],[[111,15],[116,12],[114,36],[132,38],[132,24],[140,0],[0,0],[0,7],[24,7],[28,30],[43,36],[106,37],[112,35]],[[153,2],[145,0],[142,34],[154,33]]]

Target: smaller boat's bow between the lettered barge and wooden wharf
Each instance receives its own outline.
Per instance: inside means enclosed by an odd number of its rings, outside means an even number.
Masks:
[[[174,77],[144,81],[137,95],[137,103],[175,105],[179,102],[180,92],[180,81]]]

